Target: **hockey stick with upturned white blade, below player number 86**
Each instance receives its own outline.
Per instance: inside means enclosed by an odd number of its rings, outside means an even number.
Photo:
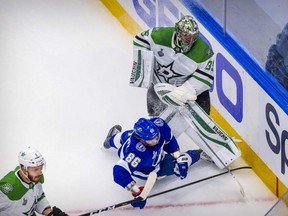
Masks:
[[[101,212],[104,212],[104,211],[110,211],[110,210],[113,210],[115,208],[126,206],[126,205],[129,205],[131,203],[135,203],[135,202],[139,202],[139,201],[145,200],[145,199],[147,199],[148,194],[152,190],[152,188],[153,188],[153,186],[154,186],[154,184],[156,182],[156,179],[157,179],[157,174],[155,172],[151,172],[149,174],[148,178],[147,178],[147,181],[145,183],[143,191],[135,199],[128,200],[128,201],[125,201],[125,202],[121,202],[121,203],[118,203],[118,204],[115,204],[115,205],[107,206],[105,208],[101,208],[101,209],[98,209],[98,210],[95,210],[95,211],[92,211],[92,212],[88,212],[88,213],[85,213],[85,214],[81,214],[81,215],[78,215],[78,216],[94,215],[94,214],[98,214],[98,213],[101,213]]]

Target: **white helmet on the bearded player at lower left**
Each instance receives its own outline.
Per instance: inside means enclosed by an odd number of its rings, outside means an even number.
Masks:
[[[28,167],[37,167],[41,165],[46,165],[46,161],[40,152],[33,148],[27,147],[21,150],[18,154],[18,161],[20,165],[23,165],[24,168],[27,170]]]

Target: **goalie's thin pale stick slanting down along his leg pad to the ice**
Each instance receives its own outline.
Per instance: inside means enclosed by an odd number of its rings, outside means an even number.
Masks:
[[[196,103],[196,102],[195,102]],[[192,108],[192,106],[187,103],[186,104],[186,109],[189,111],[189,112],[195,112]],[[231,169],[230,167],[227,167],[224,162],[221,160],[221,158],[215,153],[215,151],[211,148],[211,146],[206,142],[206,140],[202,137],[202,135],[198,132],[198,130],[195,128],[194,125],[192,125],[192,123],[190,122],[191,119],[188,119],[187,116],[183,115],[182,112],[180,111],[180,114],[183,116],[183,118],[186,120],[186,122],[192,127],[194,128],[195,132],[199,135],[200,139],[203,141],[203,143],[205,143],[205,145],[209,148],[209,150],[213,153],[213,155],[216,156],[216,158],[220,161],[220,163],[227,169],[227,171],[230,173],[230,175],[233,177],[233,179],[237,182],[237,184],[239,185],[240,187],[240,193],[243,197],[245,197],[245,191],[244,191],[244,188],[243,186],[240,184],[240,182],[236,179],[235,175],[231,172]]]

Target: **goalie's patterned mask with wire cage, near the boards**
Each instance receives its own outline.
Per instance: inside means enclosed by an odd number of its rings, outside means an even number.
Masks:
[[[175,24],[176,44],[183,53],[190,51],[199,36],[199,28],[192,16],[184,16]]]

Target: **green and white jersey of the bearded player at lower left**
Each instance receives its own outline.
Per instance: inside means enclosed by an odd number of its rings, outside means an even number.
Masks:
[[[42,213],[49,203],[42,189],[44,177],[37,184],[27,184],[18,175],[19,167],[0,180],[0,215],[35,216]]]

